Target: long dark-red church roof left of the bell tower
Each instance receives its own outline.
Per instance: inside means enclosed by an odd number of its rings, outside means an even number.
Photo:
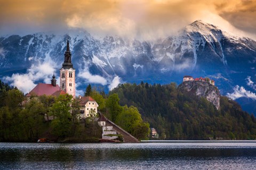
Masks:
[[[52,84],[39,83],[33,90],[31,90],[26,97],[31,95],[41,96],[41,95],[52,95],[53,93],[60,91],[59,85],[53,86]]]

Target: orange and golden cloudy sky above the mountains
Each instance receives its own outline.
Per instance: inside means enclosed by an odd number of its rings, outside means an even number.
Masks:
[[[0,34],[81,28],[94,35],[153,38],[203,20],[256,39],[256,0],[0,0]]]

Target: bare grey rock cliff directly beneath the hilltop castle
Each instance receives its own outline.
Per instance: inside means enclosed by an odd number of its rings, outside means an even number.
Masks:
[[[220,109],[220,92],[218,88],[209,82],[204,81],[187,81],[178,86],[178,90],[189,92],[191,95],[206,98],[217,110]]]

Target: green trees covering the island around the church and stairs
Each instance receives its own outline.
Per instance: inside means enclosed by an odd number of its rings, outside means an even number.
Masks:
[[[117,94],[105,95],[86,88],[99,104],[98,110],[137,139],[148,139],[149,124],[143,122],[137,108],[120,106]],[[0,142],[98,142],[102,129],[93,117],[79,118],[79,100],[71,95],[32,96],[0,80]],[[49,117],[54,117],[49,121]]]

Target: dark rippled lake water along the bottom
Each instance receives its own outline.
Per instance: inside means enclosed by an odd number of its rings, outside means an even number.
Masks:
[[[0,143],[0,169],[256,169],[256,142]]]

